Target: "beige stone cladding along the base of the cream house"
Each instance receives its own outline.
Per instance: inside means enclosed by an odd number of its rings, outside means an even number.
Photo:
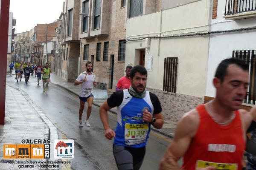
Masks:
[[[184,113],[204,103],[204,98],[184,95],[168,94],[161,90],[147,88],[148,91],[157,95],[162,106],[164,119],[178,122]]]

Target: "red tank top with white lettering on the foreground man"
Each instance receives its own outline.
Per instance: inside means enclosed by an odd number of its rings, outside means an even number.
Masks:
[[[189,149],[183,157],[185,170],[195,170],[208,166],[216,166],[223,170],[241,170],[241,161],[245,149],[239,111],[227,126],[214,122],[204,105],[196,108],[200,116],[200,124]]]

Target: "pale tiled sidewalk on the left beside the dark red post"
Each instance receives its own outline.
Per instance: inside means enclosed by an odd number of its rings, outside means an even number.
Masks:
[[[3,159],[3,144],[20,144],[22,139],[58,139],[57,128],[26,92],[6,83],[5,125],[0,125],[1,170],[19,169],[19,164],[7,164]],[[51,140],[51,147],[53,145]],[[39,170],[38,167],[29,169]]]

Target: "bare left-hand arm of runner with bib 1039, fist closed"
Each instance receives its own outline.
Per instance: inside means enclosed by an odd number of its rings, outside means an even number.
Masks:
[[[115,132],[110,128],[108,124],[108,110],[110,109],[111,107],[108,106],[107,101],[105,101],[99,108],[100,119],[105,129],[105,137],[109,140],[116,136]]]

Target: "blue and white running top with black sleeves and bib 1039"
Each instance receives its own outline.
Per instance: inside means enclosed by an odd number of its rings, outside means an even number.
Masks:
[[[115,145],[125,147],[145,147],[150,132],[150,123],[143,121],[143,111],[152,115],[162,111],[156,95],[146,91],[144,98],[131,96],[128,89],[116,92],[107,100],[113,108],[117,106],[117,126]]]

